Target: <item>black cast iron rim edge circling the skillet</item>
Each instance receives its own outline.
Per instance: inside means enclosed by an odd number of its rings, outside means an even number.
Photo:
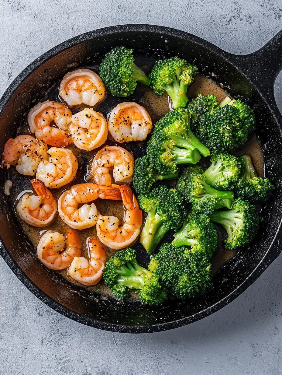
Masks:
[[[54,57],[55,55],[63,52],[64,50],[72,46],[79,45],[80,43],[93,39],[94,37],[110,35],[110,34],[118,33],[121,31],[122,32],[145,31],[148,33],[155,32],[155,33],[165,34],[167,36],[181,37],[184,40],[190,40],[207,50],[215,52],[216,54],[220,55],[221,58],[226,60],[230,65],[233,65],[234,68],[237,71],[239,71],[242,75],[244,75],[247,78],[247,80],[250,81],[251,84],[257,89],[257,91],[260,92],[260,94],[264,97],[260,88],[258,88],[249,78],[249,75],[246,74],[245,71],[242,71],[242,69],[240,69],[238,66],[240,59],[246,58],[249,55],[240,56],[240,55],[230,54],[229,52],[222,50],[221,48],[213,45],[212,43],[198,36],[187,33],[185,31],[177,30],[175,28],[170,28],[170,27],[165,27],[165,26],[155,26],[155,25],[149,25],[149,24],[127,24],[127,25],[109,26],[109,27],[104,27],[104,28],[100,28],[97,30],[88,31],[81,35],[70,38],[60,43],[59,45],[49,49],[49,51],[45,52],[44,54],[40,55],[33,62],[31,62],[23,71],[21,71],[18,74],[18,76],[12,81],[9,87],[5,90],[3,96],[0,99],[0,116],[3,113],[3,110],[8,104],[9,100],[12,98],[13,94],[18,89],[19,85],[32,72],[34,72],[37,68],[39,68],[43,63],[48,61],[50,58]],[[230,59],[231,56],[235,58]],[[268,101],[266,101],[266,103],[269,104]],[[276,118],[275,114],[273,114],[273,116]],[[264,257],[261,258],[261,260],[255,267],[255,269],[252,270],[252,272],[248,275],[248,277],[227,296],[225,296],[224,298],[222,298],[221,300],[219,300],[212,306],[209,306],[205,308],[204,310],[201,310],[189,317],[173,320],[173,321],[166,322],[166,323],[150,324],[150,325],[142,325],[142,326],[126,326],[122,324],[106,323],[103,321],[95,320],[93,318],[86,317],[85,315],[78,314],[70,310],[69,308],[66,308],[65,306],[61,305],[60,303],[56,302],[51,297],[49,297],[45,292],[43,292],[39,287],[37,287],[37,285],[34,284],[28,278],[27,275],[25,275],[25,273],[21,270],[21,268],[16,264],[15,260],[10,255],[1,237],[0,237],[0,255],[3,258],[3,260],[7,263],[9,268],[12,270],[12,272],[16,275],[16,277],[22,282],[22,284],[25,285],[25,287],[27,287],[28,290],[31,291],[31,293],[34,294],[34,296],[36,296],[39,300],[44,302],[53,310],[59,312],[61,315],[64,315],[72,320],[75,320],[78,323],[85,324],[87,326],[95,327],[95,328],[102,329],[102,330],[111,331],[111,332],[151,333],[151,332],[161,332],[165,330],[170,330],[173,328],[178,328],[178,327],[182,327],[187,324],[193,323],[194,321],[203,319],[207,317],[208,315],[213,314],[214,312],[218,311],[219,309],[223,308],[224,306],[228,305],[228,303],[236,299],[236,297],[238,297],[241,293],[243,293],[243,291],[245,291],[256,279],[258,279],[258,277],[266,270],[266,268],[278,257],[280,251],[270,252],[270,250],[275,245],[275,242],[279,240],[277,237],[279,234],[280,227],[281,227],[281,222],[273,238],[273,241],[271,245],[269,246],[269,249],[267,249],[266,253],[264,254]],[[266,257],[268,259],[266,259]]]

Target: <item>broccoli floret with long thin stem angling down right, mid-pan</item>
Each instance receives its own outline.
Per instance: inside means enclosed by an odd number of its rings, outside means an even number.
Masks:
[[[163,132],[167,139],[171,139],[176,143],[179,138],[186,139],[194,148],[204,155],[209,156],[209,149],[201,143],[194,135],[190,126],[190,112],[185,108],[179,108],[175,111],[170,111],[162,117],[156,124],[154,134]]]

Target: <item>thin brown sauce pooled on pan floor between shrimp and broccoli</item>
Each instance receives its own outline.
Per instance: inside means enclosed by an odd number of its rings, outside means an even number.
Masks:
[[[153,63],[153,61],[150,62],[148,65],[151,65],[151,63]],[[89,67],[89,68],[93,69],[94,71],[97,71],[95,67]],[[59,84],[60,82],[54,84],[54,86],[41,98],[40,101],[45,101],[49,99],[49,100],[60,102],[61,100],[58,96]],[[213,94],[216,96],[216,99],[218,102],[221,102],[228,95],[228,93],[224,89],[219,87],[214,81],[202,75],[198,75],[195,78],[195,82],[189,87],[188,97],[189,98],[196,97],[198,93],[201,93],[202,95]],[[154,93],[152,93],[148,88],[142,85],[137,85],[134,95],[124,100],[122,98],[113,98],[112,96],[107,94],[106,99],[100,104],[98,104],[96,107],[94,107],[94,110],[103,113],[103,115],[107,117],[107,114],[110,112],[110,110],[112,110],[113,107],[115,107],[118,103],[121,103],[122,101],[136,101],[137,103],[145,107],[148,113],[151,115],[153,123],[155,123],[159,118],[163,117],[163,115],[169,112],[170,110],[169,101],[168,101],[168,97],[166,93],[164,93],[163,96],[157,96]],[[84,106],[72,107],[71,111],[74,114],[74,113],[81,111],[83,108]],[[26,122],[23,123],[22,126],[20,126],[18,130],[19,130],[18,134],[29,133]],[[104,145],[106,144],[116,145],[116,142],[113,142],[110,139],[107,139]],[[146,141],[128,142],[128,143],[125,142],[121,146],[131,151],[134,154],[134,159],[136,159],[136,157],[139,157],[145,154],[145,145],[146,145]],[[73,153],[76,155],[76,157],[78,158],[79,170],[78,170],[76,179],[72,181],[70,185],[64,186],[61,189],[52,189],[52,193],[54,194],[56,199],[59,198],[59,196],[64,190],[69,189],[70,186],[74,184],[78,184],[78,183],[84,183],[87,181],[86,177],[88,174],[88,164],[90,160],[93,159],[95,153],[101,147],[95,149],[92,152],[84,152],[74,147],[73,145],[68,148],[70,148],[73,151]],[[263,154],[262,154],[260,144],[255,134],[252,136],[252,138],[246,143],[246,145],[242,149],[236,151],[237,156],[242,155],[242,154],[249,154],[252,157],[254,166],[258,174],[260,176],[263,176],[263,170],[264,170]],[[15,167],[10,168],[9,172],[10,172],[10,179],[13,181],[13,187],[10,193],[11,193],[12,203],[14,204],[14,208],[15,208],[16,199],[17,197],[19,198],[19,195],[21,195],[21,192],[23,192],[23,190],[31,189],[30,178],[24,175],[18,174],[16,172]],[[93,180],[88,180],[87,182],[93,182]],[[117,216],[120,220],[120,224],[122,223],[123,216],[124,216],[124,208],[122,206],[121,201],[109,201],[109,200],[97,199],[97,201],[95,201],[95,204],[97,206],[98,211],[101,214]],[[26,224],[22,220],[19,220],[19,221],[24,229],[25,234],[33,243],[34,248],[36,248],[39,237],[45,231],[47,230],[58,231],[62,234],[65,234],[67,230],[69,229],[69,227],[60,219],[59,216],[57,216],[55,221],[51,225],[49,225],[48,228],[46,229],[35,228],[33,226]],[[82,242],[82,256],[86,257],[87,259],[88,259],[88,254],[87,254],[87,249],[86,249],[86,239],[87,237],[95,233],[96,233],[95,226],[93,228],[79,231],[79,237]],[[221,239],[220,233],[219,233],[219,238]],[[139,247],[137,244],[133,246],[134,247],[137,246],[138,249],[142,248],[141,245]],[[115,250],[106,248],[107,260],[115,252],[116,252]],[[145,250],[141,252],[142,254],[146,253]],[[215,272],[216,270],[221,268],[224,264],[226,264],[231,258],[234,257],[234,255],[237,254],[237,252],[238,250],[227,251],[219,246],[219,249],[216,252],[212,260],[213,272]],[[146,254],[145,255],[143,254],[143,258],[144,259],[143,259],[142,265],[146,266],[146,263],[148,264],[148,261],[149,261],[149,256],[147,256]],[[62,271],[57,271],[57,272],[59,272],[60,275],[63,278],[66,278],[69,282],[75,283],[82,288],[92,288],[92,290],[95,290],[99,293],[112,295],[110,290],[103,284],[103,281],[99,282],[98,285],[87,287],[87,286],[77,283],[75,280],[70,278],[67,275],[67,270],[62,270]],[[136,294],[132,293],[131,296],[134,297],[136,296]]]

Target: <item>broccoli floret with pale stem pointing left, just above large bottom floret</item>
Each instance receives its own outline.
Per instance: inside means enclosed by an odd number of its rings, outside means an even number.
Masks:
[[[217,233],[207,215],[191,213],[172,244],[176,247],[190,246],[192,252],[200,251],[211,259],[217,248]]]

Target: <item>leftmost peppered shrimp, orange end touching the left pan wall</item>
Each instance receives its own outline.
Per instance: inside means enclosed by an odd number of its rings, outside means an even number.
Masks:
[[[38,164],[48,158],[48,147],[32,135],[18,135],[4,144],[1,168],[16,165],[16,170],[25,176],[34,176]]]

